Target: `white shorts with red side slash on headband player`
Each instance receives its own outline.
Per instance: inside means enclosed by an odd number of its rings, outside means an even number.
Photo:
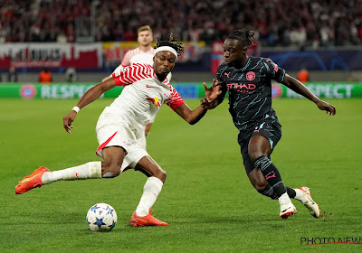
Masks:
[[[146,149],[138,144],[145,135],[139,132],[139,126],[132,125],[126,117],[103,111],[97,122],[96,134],[100,144],[96,154],[100,157],[103,158],[102,151],[109,146],[121,146],[126,150],[120,168],[122,172],[128,166],[135,168],[138,161],[148,155]]]

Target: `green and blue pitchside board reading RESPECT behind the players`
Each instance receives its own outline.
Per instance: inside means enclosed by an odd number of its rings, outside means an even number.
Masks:
[[[43,98],[67,99],[81,98],[81,96],[97,83],[53,83],[42,85],[38,83],[17,83],[0,85],[0,98]],[[205,91],[201,82],[176,82],[173,86],[182,98],[204,98]],[[361,82],[312,82],[307,87],[319,98],[362,98]],[[110,89],[101,98],[117,98],[120,87]],[[273,98],[303,98],[285,86],[273,83],[271,87]]]

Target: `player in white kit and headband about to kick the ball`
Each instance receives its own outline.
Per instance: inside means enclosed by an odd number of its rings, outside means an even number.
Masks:
[[[84,108],[105,91],[123,86],[124,89],[114,102],[103,110],[96,126],[97,139],[100,146],[97,155],[103,162],[90,162],[79,166],[50,172],[46,167],[39,167],[32,174],[25,176],[15,188],[21,194],[43,184],[59,180],[81,180],[117,177],[128,166],[145,173],[148,180],[136,211],[130,223],[137,226],[168,226],[166,222],[157,220],[151,213],[151,207],[157,200],[159,192],[166,181],[166,172],[148,155],[146,149],[138,144],[142,136],[142,127],[152,122],[158,109],[167,104],[187,123],[193,125],[205,116],[211,102],[194,110],[187,107],[167,80],[167,74],[175,66],[177,56],[184,51],[184,45],[173,40],[159,42],[155,51],[153,66],[137,63],[126,70],[113,74],[106,80],[89,89],[80,99],[77,106],[63,117],[63,127],[71,133],[71,123]],[[213,101],[221,93],[220,86],[205,86],[206,98]]]

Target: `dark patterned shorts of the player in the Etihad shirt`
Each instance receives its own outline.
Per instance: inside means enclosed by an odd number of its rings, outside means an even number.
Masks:
[[[271,144],[271,151],[281,139],[281,124],[275,114],[265,115],[260,120],[255,121],[248,129],[239,132],[238,143],[241,147],[243,155],[243,165],[246,174],[249,174],[254,169],[252,160],[248,155],[248,145],[252,136],[264,136]]]

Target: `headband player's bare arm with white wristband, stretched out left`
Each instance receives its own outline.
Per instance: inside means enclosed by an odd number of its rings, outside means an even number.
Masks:
[[[89,89],[79,100],[77,107],[79,109],[84,108],[95,99],[99,98],[101,94],[106,92],[109,89],[116,87],[116,81],[114,79],[105,80],[100,84]],[[71,123],[74,121],[75,117],[77,117],[77,111],[72,109],[70,113],[68,113],[65,117],[62,118],[62,126],[68,134],[71,134]]]

